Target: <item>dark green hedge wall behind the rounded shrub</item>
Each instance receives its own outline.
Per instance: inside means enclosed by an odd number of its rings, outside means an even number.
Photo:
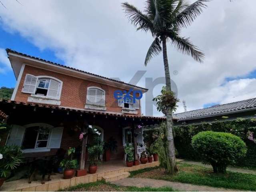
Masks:
[[[256,119],[241,119],[225,122],[214,122],[175,126],[174,144],[178,150],[179,158],[200,160],[199,154],[192,147],[192,137],[202,131],[226,132],[240,137],[247,146],[246,156],[233,165],[256,168],[256,143],[248,139],[248,132],[256,135]],[[254,137],[255,138],[255,137]]]

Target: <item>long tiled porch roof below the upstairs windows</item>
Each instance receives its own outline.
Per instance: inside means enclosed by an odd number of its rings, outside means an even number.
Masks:
[[[120,113],[114,112],[105,112],[105,111],[96,111],[96,110],[86,110],[86,109],[75,109],[75,108],[67,108],[67,107],[60,107],[54,105],[44,105],[44,104],[35,104],[35,103],[26,103],[26,102],[18,102],[12,100],[5,100],[0,99],[0,110],[2,110],[1,105],[12,105],[12,106],[32,106],[38,108],[49,108],[52,110],[60,110],[60,111],[70,111],[70,112],[77,112],[80,114],[95,114],[95,115],[107,115],[107,116],[114,116],[114,117],[123,117],[123,118],[134,118],[134,119],[151,119],[151,120],[166,120],[165,117],[154,117],[154,116],[134,116],[134,115],[124,115]],[[7,113],[7,112],[6,112]]]

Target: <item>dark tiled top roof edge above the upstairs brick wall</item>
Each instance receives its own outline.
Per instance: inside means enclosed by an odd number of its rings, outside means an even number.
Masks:
[[[38,57],[27,55],[27,54],[24,54],[24,53],[20,53],[20,52],[17,52],[17,51],[8,49],[8,48],[6,49],[6,52],[7,52],[8,55],[9,55],[9,53],[18,54],[20,56],[32,58],[32,59],[35,59],[35,60],[38,60],[38,61],[41,61],[41,62],[46,62],[46,63],[49,63],[49,64],[53,64],[55,66],[60,66],[60,67],[63,67],[63,68],[66,68],[66,69],[70,69],[70,70],[74,70],[74,71],[77,71],[77,72],[82,72],[84,74],[88,74],[88,75],[92,75],[92,76],[95,76],[95,77],[103,78],[103,79],[106,79],[106,80],[110,80],[112,82],[118,82],[118,83],[121,83],[121,84],[124,84],[124,85],[133,86],[133,87],[136,87],[138,89],[142,89],[145,92],[148,91],[148,89],[143,88],[143,87],[139,87],[139,86],[136,86],[136,85],[128,84],[128,83],[125,83],[125,82],[122,82],[122,81],[114,80],[114,79],[103,77],[103,76],[100,76],[100,75],[92,74],[92,73],[89,73],[89,72],[86,72],[86,71],[83,71],[83,70],[79,70],[79,69],[72,68],[72,67],[69,67],[69,66],[65,66],[65,65],[62,65],[62,64],[54,63],[54,62],[51,62],[51,61],[48,61],[48,60],[44,60],[44,59],[41,59],[41,58],[38,58]]]

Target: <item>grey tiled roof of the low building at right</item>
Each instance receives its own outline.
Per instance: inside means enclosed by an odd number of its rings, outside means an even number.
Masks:
[[[256,110],[256,98],[232,102],[212,107],[192,110],[183,113],[174,114],[173,117],[180,120],[190,120],[196,118],[204,118],[209,116],[218,116],[230,113],[243,112],[248,110]]]

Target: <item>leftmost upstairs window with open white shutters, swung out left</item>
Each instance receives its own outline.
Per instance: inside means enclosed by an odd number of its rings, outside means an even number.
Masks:
[[[26,74],[22,92],[42,98],[60,99],[62,81],[50,76]]]

